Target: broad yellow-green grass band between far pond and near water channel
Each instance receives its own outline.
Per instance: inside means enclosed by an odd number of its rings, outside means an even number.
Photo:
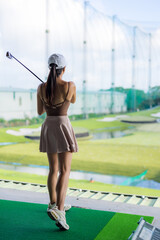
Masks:
[[[160,181],[160,134],[135,132],[116,139],[79,141],[79,152],[73,154],[72,170],[134,176],[148,170],[147,178]],[[39,153],[38,142],[19,143],[0,148],[5,162],[48,165],[45,153]]]

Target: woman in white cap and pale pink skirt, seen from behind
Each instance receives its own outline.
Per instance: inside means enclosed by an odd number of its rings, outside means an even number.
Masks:
[[[41,115],[47,113],[42,124],[40,137],[40,152],[46,152],[49,162],[48,191],[50,203],[47,213],[56,225],[68,230],[65,211],[70,205],[64,205],[72,152],[78,151],[78,146],[67,116],[70,103],[76,101],[76,86],[73,82],[62,80],[66,69],[65,59],[60,54],[53,54],[48,59],[50,72],[46,83],[37,89],[37,111]],[[59,176],[57,180],[57,175]]]

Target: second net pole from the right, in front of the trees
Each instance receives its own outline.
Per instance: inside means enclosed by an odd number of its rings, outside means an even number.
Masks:
[[[132,54],[132,111],[136,110],[136,91],[135,91],[135,58],[136,58],[136,29],[133,27],[133,54]]]

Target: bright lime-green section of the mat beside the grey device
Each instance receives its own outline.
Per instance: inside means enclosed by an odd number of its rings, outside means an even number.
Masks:
[[[116,213],[108,224],[97,235],[95,240],[124,240],[138,227],[137,222],[142,216]],[[143,216],[145,221],[152,223],[153,217]]]

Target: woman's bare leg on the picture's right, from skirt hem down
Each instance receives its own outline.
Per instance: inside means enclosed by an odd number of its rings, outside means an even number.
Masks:
[[[64,202],[67,193],[69,174],[72,162],[72,153],[64,152],[58,154],[59,177],[57,182],[57,206],[59,210],[64,210]]]

